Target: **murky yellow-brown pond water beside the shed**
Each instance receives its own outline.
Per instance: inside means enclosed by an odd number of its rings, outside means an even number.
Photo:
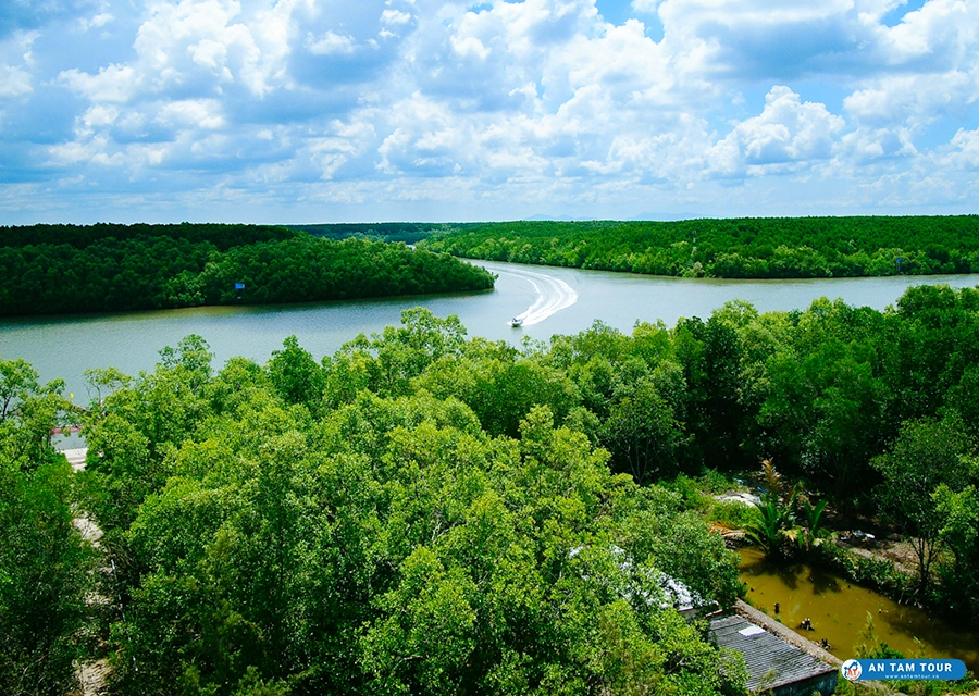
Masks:
[[[878,637],[905,657],[957,658],[979,674],[976,632],[929,618],[917,607],[899,605],[825,570],[804,563],[772,563],[760,550],[748,547],[741,549],[741,580],[748,585],[748,604],[772,618],[778,616],[810,641],[826,638],[830,651],[841,660],[856,657],[854,646],[860,643],[859,633],[870,613]],[[774,613],[776,602],[779,614]],[[807,617],[814,631],[798,629]]]

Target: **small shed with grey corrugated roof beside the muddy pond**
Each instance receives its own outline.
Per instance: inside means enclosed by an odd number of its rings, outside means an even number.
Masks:
[[[710,621],[710,636],[718,647],[744,656],[748,691],[773,696],[829,696],[837,689],[839,671],[811,655],[789,645],[742,617]]]

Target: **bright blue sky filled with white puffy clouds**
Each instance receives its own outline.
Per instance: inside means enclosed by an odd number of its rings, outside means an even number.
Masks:
[[[3,0],[0,224],[958,214],[979,0]]]

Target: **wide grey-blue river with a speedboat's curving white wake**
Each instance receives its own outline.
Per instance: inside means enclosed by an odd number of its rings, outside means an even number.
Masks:
[[[856,306],[884,309],[910,285],[979,284],[976,275],[819,278],[803,281],[718,281],[557,269],[480,261],[497,273],[493,290],[394,299],[191,309],[82,316],[0,320],[0,357],[23,358],[44,381],[61,377],[78,403],[88,400],[83,372],[115,366],[135,374],[150,370],[164,346],[188,334],[210,344],[222,364],[233,356],[269,359],[295,334],[317,358],[332,355],[357,334],[397,324],[402,310],[426,307],[439,316],[458,314],[470,335],[519,344],[523,336],[548,339],[573,334],[596,319],[623,332],[636,320],[681,316],[706,319],[728,300],[752,302],[759,311],[806,309],[814,299],[843,298]],[[524,324],[508,322],[520,316]]]

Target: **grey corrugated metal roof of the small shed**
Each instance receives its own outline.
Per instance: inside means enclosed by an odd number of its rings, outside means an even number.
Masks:
[[[748,670],[747,687],[753,692],[776,688],[837,669],[741,617],[711,620],[710,635],[718,647],[731,648],[744,656]]]

